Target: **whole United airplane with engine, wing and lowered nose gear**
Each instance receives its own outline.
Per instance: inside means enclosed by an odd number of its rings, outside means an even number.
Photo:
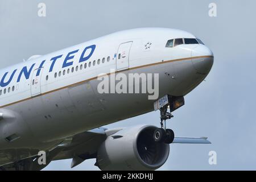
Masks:
[[[62,159],[72,159],[71,167],[96,159],[101,170],[155,170],[168,159],[170,144],[209,144],[205,137],[175,137],[166,121],[207,77],[213,60],[189,32],[135,28],[1,69],[0,170],[41,170]],[[102,73],[157,74],[159,93],[154,99],[99,93]],[[104,127],[154,110],[160,110],[159,127]]]

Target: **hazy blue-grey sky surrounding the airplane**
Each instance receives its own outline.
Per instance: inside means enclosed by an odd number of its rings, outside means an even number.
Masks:
[[[38,3],[46,3],[46,17]],[[210,18],[208,5],[217,4]],[[35,1],[0,0],[0,68],[20,63],[98,36],[137,27],[178,28],[198,36],[214,52],[206,81],[185,97],[185,106],[168,123],[176,136],[209,137],[210,145],[172,144],[160,169],[256,169],[256,2],[247,1]],[[151,123],[158,111],[109,125]],[[208,152],[217,152],[217,165]],[[73,168],[98,169],[94,159]],[[71,160],[52,162],[46,170],[68,170]]]

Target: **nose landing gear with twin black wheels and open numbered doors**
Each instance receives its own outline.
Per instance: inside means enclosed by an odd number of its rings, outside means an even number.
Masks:
[[[171,114],[172,111],[178,109],[184,105],[183,97],[171,97],[164,96],[154,103],[155,110],[160,110],[160,128],[154,131],[155,142],[172,143],[174,141],[174,131],[171,129],[166,129],[166,120],[171,119],[174,115]],[[168,106],[170,107],[170,112],[168,112]]]

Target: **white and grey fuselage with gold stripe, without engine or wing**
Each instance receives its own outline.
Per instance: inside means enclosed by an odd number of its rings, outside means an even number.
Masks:
[[[98,93],[101,73],[159,73],[159,97],[191,92],[209,73],[213,54],[203,44],[166,47],[177,38],[195,36],[138,28],[1,69],[0,151],[23,150],[26,158],[65,137],[154,110],[147,94]]]

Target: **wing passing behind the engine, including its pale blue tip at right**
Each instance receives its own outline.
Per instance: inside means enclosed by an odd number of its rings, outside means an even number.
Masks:
[[[97,157],[97,150],[109,135],[117,133],[120,129],[106,129],[100,127],[97,129],[85,131],[71,137],[64,138],[52,150],[46,152],[46,165],[39,165],[39,156],[27,157],[19,162],[9,163],[0,167],[2,170],[40,170],[46,167],[52,160],[72,159],[71,168],[84,162],[86,159]],[[175,137],[173,143],[195,143],[209,144],[209,140],[205,137],[189,138]],[[0,151],[1,153],[1,151]],[[17,151],[14,152],[17,154]],[[19,153],[19,152],[18,152]],[[96,164],[97,166],[97,164]]]

